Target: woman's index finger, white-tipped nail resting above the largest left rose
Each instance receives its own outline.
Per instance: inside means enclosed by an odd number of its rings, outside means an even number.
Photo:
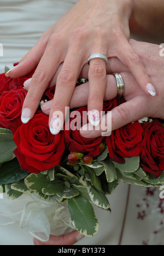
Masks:
[[[54,77],[54,74],[60,65],[60,61],[63,58],[63,56],[60,54],[60,45],[60,40],[55,41],[53,38],[49,41],[45,53],[40,60],[36,71],[34,72],[30,88],[27,92],[24,105],[22,107],[22,123],[28,123],[28,121],[36,113],[40,99],[42,98],[45,89],[48,88],[52,77]]]

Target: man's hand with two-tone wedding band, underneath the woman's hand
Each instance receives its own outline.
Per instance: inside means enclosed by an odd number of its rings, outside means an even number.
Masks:
[[[112,110],[112,130],[119,129],[128,123],[144,117],[164,119],[164,58],[160,56],[159,45],[136,42],[134,40],[130,40],[130,44],[140,56],[140,59],[142,59],[143,65],[145,66],[153,83],[155,84],[157,95],[156,97],[145,95],[143,90],[136,82],[136,79],[133,77],[132,73],[128,71],[127,67],[123,65],[118,59],[111,59],[108,65],[108,72],[121,72],[125,83],[125,99],[127,101],[126,103],[121,104],[119,107],[116,107]],[[88,94],[88,83],[75,88],[71,100],[71,108],[85,106],[87,103]],[[117,88],[115,78],[113,75],[107,75],[107,88],[104,100],[112,100],[112,98],[116,97],[116,95]],[[51,104],[52,102],[49,101],[42,105],[42,110],[44,113],[49,113]],[[87,125],[87,128],[88,129],[86,131],[85,129],[81,130],[81,135],[83,137],[94,138],[101,135],[101,130],[95,131],[94,129],[91,129],[90,125]]]

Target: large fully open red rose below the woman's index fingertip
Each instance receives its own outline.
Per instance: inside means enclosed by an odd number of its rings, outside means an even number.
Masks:
[[[64,136],[51,134],[47,115],[39,111],[27,124],[11,131],[17,146],[14,154],[22,170],[39,173],[60,164],[65,151]]]

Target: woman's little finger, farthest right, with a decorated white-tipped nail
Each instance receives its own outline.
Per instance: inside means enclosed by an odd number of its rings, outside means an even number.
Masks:
[[[156,90],[153,84],[151,84],[149,75],[145,70],[142,61],[140,61],[139,55],[133,50],[126,38],[121,38],[121,42],[119,43],[121,44],[121,47],[117,48],[118,58],[132,72],[140,88],[142,88],[146,94],[155,96]],[[124,48],[124,50],[122,50],[122,48]]]

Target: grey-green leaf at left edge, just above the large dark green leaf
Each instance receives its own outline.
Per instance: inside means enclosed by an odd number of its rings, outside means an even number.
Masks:
[[[15,158],[14,150],[16,144],[14,141],[2,141],[0,142],[0,163],[8,162]]]

